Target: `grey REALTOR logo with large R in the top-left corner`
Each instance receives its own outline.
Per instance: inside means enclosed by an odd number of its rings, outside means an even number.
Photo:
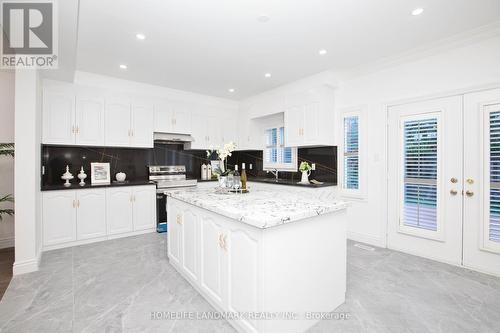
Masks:
[[[53,1],[2,1],[2,68],[57,68]]]

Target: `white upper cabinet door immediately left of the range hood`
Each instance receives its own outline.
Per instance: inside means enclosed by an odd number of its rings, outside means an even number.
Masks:
[[[132,104],[130,119],[130,146],[153,148],[153,105]]]

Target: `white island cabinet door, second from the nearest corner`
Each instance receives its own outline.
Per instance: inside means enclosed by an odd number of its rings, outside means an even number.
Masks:
[[[200,216],[201,279],[200,287],[219,306],[225,304],[223,288],[224,249],[223,227],[209,215]]]

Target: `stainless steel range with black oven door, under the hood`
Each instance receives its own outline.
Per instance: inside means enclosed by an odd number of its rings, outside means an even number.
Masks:
[[[166,189],[193,187],[198,181],[187,179],[185,165],[150,165],[149,180],[156,184],[156,216],[158,232],[167,231]]]

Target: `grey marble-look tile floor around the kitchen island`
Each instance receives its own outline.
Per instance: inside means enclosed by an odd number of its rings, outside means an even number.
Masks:
[[[234,332],[223,320],[151,320],[152,311],[213,311],[169,265],[166,235],[44,253],[12,279],[1,332]],[[310,332],[500,332],[500,279],[386,249],[348,245],[345,320]]]

